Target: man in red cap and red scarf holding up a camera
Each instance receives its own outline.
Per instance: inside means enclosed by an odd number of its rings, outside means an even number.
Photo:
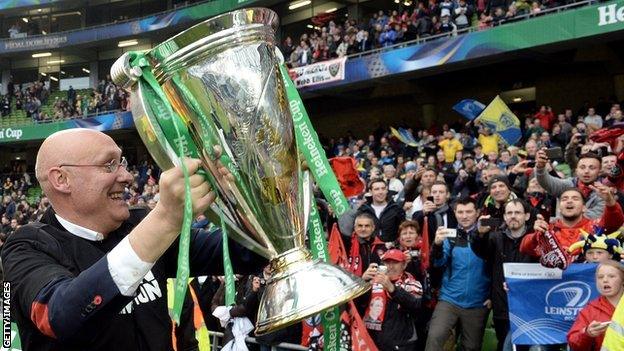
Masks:
[[[415,350],[418,335],[414,319],[422,286],[405,272],[407,257],[401,250],[388,250],[381,260],[383,266],[373,265],[363,276],[372,284],[364,324],[380,350]]]

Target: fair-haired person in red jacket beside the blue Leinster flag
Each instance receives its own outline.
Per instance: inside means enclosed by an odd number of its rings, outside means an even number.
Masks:
[[[600,297],[581,310],[568,332],[568,344],[573,351],[600,350],[615,307],[624,293],[624,266],[613,260],[601,263],[596,269],[596,286]]]

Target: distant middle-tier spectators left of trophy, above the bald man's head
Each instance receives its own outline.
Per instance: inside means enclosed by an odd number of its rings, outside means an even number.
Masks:
[[[50,98],[50,81],[44,79],[30,84],[13,83],[13,79],[7,84],[7,93],[0,97],[0,114],[7,117],[12,108],[23,110],[26,116],[34,122],[47,122],[59,119],[79,118],[83,116],[100,114],[102,112],[126,110],[128,108],[129,93],[115,85],[110,75],[100,80],[97,87],[92,91],[82,90],[82,94],[69,86],[65,97],[55,96],[54,101]],[[42,111],[41,106],[52,104],[51,115]]]

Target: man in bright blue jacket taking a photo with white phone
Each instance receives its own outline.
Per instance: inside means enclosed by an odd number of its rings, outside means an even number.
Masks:
[[[439,227],[435,235],[431,259],[434,267],[445,271],[429,325],[426,351],[443,350],[456,326],[461,330],[464,350],[481,350],[491,305],[489,269],[474,254],[470,243],[477,235],[477,204],[471,198],[459,199],[454,212],[457,229]]]

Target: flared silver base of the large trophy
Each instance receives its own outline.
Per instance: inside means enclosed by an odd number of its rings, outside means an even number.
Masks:
[[[256,322],[256,335],[270,333],[364,294],[370,285],[301,248],[271,260]]]

